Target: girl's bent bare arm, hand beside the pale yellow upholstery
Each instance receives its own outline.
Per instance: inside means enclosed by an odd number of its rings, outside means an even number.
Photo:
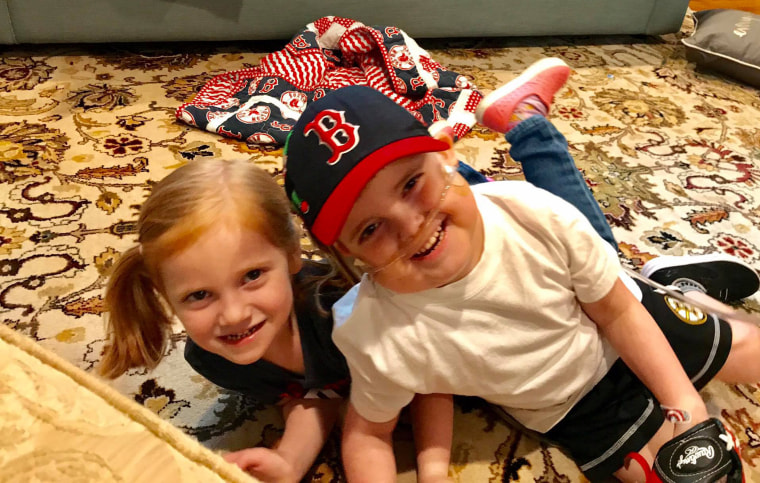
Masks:
[[[282,407],[285,432],[274,449],[248,448],[224,456],[265,482],[301,481],[327,440],[342,399],[293,399]]]

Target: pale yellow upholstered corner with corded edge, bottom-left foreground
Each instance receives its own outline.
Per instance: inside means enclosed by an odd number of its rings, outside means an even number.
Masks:
[[[0,325],[0,481],[248,483],[169,422]]]

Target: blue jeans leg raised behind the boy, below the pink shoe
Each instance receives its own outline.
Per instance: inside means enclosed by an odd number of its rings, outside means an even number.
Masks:
[[[522,164],[525,180],[578,208],[617,252],[618,244],[607,218],[575,166],[567,140],[554,124],[543,116],[533,116],[520,122],[505,138],[512,145],[510,156]]]

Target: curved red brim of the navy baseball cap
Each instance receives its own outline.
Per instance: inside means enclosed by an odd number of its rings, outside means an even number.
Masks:
[[[338,239],[356,198],[378,171],[406,156],[447,149],[449,144],[444,141],[430,136],[415,136],[383,146],[365,157],[343,177],[324,202],[311,226],[312,234],[325,245],[332,245]]]

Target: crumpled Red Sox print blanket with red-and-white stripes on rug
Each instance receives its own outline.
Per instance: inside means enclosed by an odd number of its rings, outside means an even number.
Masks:
[[[283,145],[309,102],[355,84],[379,90],[427,125],[446,121],[457,138],[470,131],[482,98],[402,30],[323,17],[258,66],[212,78],[176,116],[251,144]]]

